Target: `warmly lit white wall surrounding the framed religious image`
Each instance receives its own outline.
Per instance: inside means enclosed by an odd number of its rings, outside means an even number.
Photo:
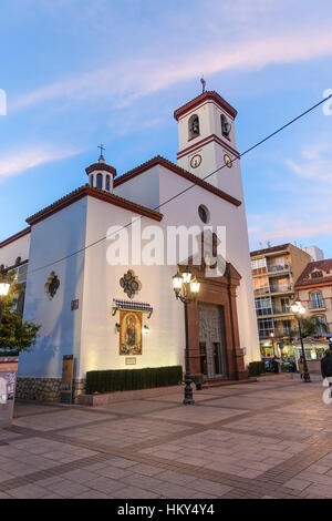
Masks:
[[[89,197],[86,244],[105,236],[108,226],[131,222],[132,216],[137,218],[137,214],[127,210]],[[142,229],[148,225],[163,226],[163,222],[143,217]],[[131,237],[132,228],[127,231]],[[185,348],[184,310],[172,288],[174,268],[135,266],[131,263],[111,266],[106,262],[110,244],[110,241],[103,241],[86,251],[80,376],[84,377],[86,371],[95,369],[138,369],[181,364]],[[120,278],[127,269],[133,269],[142,283],[142,289],[133,302],[145,302],[154,308],[149,320],[143,315],[143,324],[149,327],[149,334],[143,336],[143,355],[136,356],[135,366],[126,366],[126,357],[120,355],[120,334],[115,328],[120,321],[118,311],[112,316],[113,298],[128,300],[120,286]]]

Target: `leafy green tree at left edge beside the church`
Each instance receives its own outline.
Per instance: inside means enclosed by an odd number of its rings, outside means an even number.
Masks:
[[[22,319],[22,314],[17,310],[18,298],[21,292],[19,284],[15,284],[13,273],[6,276],[0,273],[0,280],[10,283],[10,290],[2,300],[2,320],[0,324],[0,350],[6,351],[28,351],[35,344],[37,334],[41,326]]]

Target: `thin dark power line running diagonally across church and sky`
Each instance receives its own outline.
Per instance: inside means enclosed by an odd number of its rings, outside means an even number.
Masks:
[[[243,157],[243,155],[248,154],[249,152],[251,152],[252,150],[257,149],[258,146],[260,146],[261,144],[266,143],[268,140],[270,140],[271,137],[273,137],[274,135],[279,134],[280,132],[282,132],[284,129],[287,129],[288,126],[292,125],[295,121],[300,120],[301,118],[303,118],[304,115],[309,114],[310,112],[312,112],[314,109],[317,109],[318,106],[320,106],[322,103],[325,103],[325,101],[328,101],[329,99],[332,98],[332,94],[330,94],[328,98],[324,98],[323,100],[321,100],[320,102],[315,103],[314,105],[310,106],[310,109],[308,109],[307,111],[304,112],[301,112],[301,114],[299,114],[298,116],[293,118],[292,120],[290,120],[289,122],[284,123],[282,126],[280,126],[279,129],[277,129],[274,132],[272,132],[271,134],[267,135],[266,137],[263,137],[262,140],[258,141],[255,145],[250,146],[249,149],[245,150],[243,152],[239,153],[234,160],[232,160],[232,163],[236,162],[236,161],[239,161],[241,157]],[[211,175],[215,175],[217,172],[220,172],[222,168],[225,168],[227,166],[227,164],[224,164],[222,166],[219,166],[218,168],[216,168],[214,172],[209,173],[208,175],[206,175],[205,177],[201,177],[203,181],[206,181],[207,178],[209,178]],[[159,208],[162,208],[163,206],[165,206],[166,204],[170,203],[172,201],[176,200],[177,197],[179,197],[180,195],[184,195],[185,193],[189,192],[189,190],[194,188],[195,186],[197,186],[196,183],[193,183],[190,186],[187,186],[186,188],[181,190],[180,192],[178,192],[177,194],[173,195],[172,197],[169,197],[168,200],[164,201],[163,203],[160,203],[158,206],[156,206],[155,208],[152,208],[153,211],[158,211]],[[142,219],[142,215],[139,215],[139,217],[137,217],[136,219],[132,221],[131,223],[127,223],[125,225],[123,225],[116,233],[121,232],[122,229],[125,229],[127,228],[128,226],[132,226],[133,223],[135,223],[136,221],[141,221]],[[116,234],[113,234],[113,236],[115,236]],[[65,255],[64,257],[61,257],[56,260],[53,260],[52,263],[49,263],[49,264],[45,264],[43,266],[40,266],[38,268],[34,268],[32,269],[31,272],[29,272],[29,274],[32,274],[32,273],[35,273],[35,272],[40,272],[41,269],[44,269],[44,268],[48,268],[50,266],[54,266],[54,264],[59,264],[63,260],[66,260],[68,258],[71,258],[73,257],[74,255],[77,255],[79,253],[81,252],[84,252],[89,248],[91,248],[92,246],[95,246],[100,243],[102,243],[103,241],[106,241],[107,238],[112,238],[112,235],[107,236],[105,235],[104,237],[101,237],[98,238],[97,241],[94,241],[93,243],[84,246],[83,248],[80,248],[80,249],[76,249],[75,252],[69,254],[69,255]]]

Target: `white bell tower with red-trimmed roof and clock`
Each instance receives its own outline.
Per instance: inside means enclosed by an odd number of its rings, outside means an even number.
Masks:
[[[217,92],[203,92],[174,112],[178,122],[179,152],[183,168],[243,200],[240,161],[236,146],[234,109]]]

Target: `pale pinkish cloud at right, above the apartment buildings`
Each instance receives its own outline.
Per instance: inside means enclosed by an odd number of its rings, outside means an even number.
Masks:
[[[328,140],[321,136],[302,146],[298,157],[286,160],[286,165],[289,175],[279,210],[248,214],[249,237],[256,246],[267,241],[314,242],[332,234],[332,151]]]

